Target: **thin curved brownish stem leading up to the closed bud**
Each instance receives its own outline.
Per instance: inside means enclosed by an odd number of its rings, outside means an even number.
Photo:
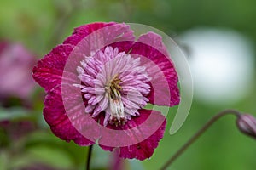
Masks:
[[[166,164],[163,167],[161,167],[160,170],[165,170],[168,166],[170,166],[172,162],[177,159],[178,156],[181,156],[183,152],[186,149],[188,149],[189,146],[193,144],[195,140],[201,136],[202,133],[205,133],[208,127],[211,127],[214,122],[217,122],[220,117],[229,115],[229,114],[235,115],[235,116],[241,115],[241,113],[236,110],[224,110],[224,111],[218,112],[216,116],[213,116],[212,119],[210,119],[203,127],[201,127],[201,129],[197,133],[195,133],[185,144],[183,144],[183,146],[179,150],[177,150],[177,152],[168,161],[166,161]]]

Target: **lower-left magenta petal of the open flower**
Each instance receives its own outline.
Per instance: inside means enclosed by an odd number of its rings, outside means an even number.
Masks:
[[[44,119],[49,124],[50,129],[55,135],[63,140],[69,142],[73,140],[79,145],[90,145],[94,142],[84,138],[75,127],[90,127],[86,124],[86,116],[84,116],[84,104],[79,101],[80,94],[73,94],[73,86],[62,85],[64,89],[69,89],[70,98],[67,99],[69,105],[64,108],[61,85],[53,88],[49,94],[47,94],[44,100]],[[63,92],[62,92],[63,93]],[[86,104],[86,103],[85,103]],[[68,115],[68,112],[73,112],[73,115]],[[70,121],[72,120],[72,122]]]

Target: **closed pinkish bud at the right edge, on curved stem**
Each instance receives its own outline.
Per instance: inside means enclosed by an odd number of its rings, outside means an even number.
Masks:
[[[238,116],[236,125],[241,131],[256,139],[256,118],[249,114]]]

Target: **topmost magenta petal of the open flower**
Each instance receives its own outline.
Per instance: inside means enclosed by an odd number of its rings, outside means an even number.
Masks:
[[[79,26],[64,43],[75,45],[74,53],[90,56],[92,52],[104,49],[109,44],[134,40],[130,26],[111,22]]]

